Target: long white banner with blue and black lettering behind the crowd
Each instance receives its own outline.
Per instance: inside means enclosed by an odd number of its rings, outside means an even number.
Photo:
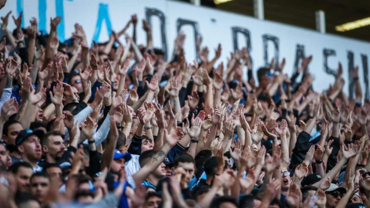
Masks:
[[[338,62],[341,61],[346,80],[345,91],[349,93],[349,70],[359,66],[363,92],[369,97],[367,60],[370,44],[365,41],[320,34],[313,30],[170,0],[8,0],[0,10],[0,16],[5,16],[10,10],[14,16],[23,11],[23,27],[30,25],[31,17],[36,17],[39,29],[46,31],[50,30],[50,17],[62,16],[63,20],[58,26],[61,41],[68,39],[74,31],[73,25],[79,23],[89,41],[100,42],[108,40],[109,29],[121,30],[131,14],[135,13],[140,20],[137,25],[138,44],[145,44],[146,41],[141,19],[150,20],[154,46],[164,49],[169,58],[178,30],[186,34],[185,53],[188,62],[196,58],[196,34],[203,37],[202,47],[208,46],[209,58],[214,56],[218,43],[222,44],[219,61],[224,63],[230,51],[248,44],[253,73],[259,67],[266,66],[272,57],[279,61],[285,57],[285,72],[291,75],[300,65],[300,56],[312,54],[309,70],[316,77],[313,86],[317,91],[333,83]],[[14,27],[10,18],[8,28]],[[127,33],[132,34],[132,27]],[[121,38],[124,41],[124,37]]]

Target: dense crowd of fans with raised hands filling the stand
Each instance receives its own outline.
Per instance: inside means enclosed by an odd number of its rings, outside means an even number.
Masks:
[[[334,84],[314,91],[312,56],[291,77],[284,59],[253,71],[246,48],[216,66],[221,44],[211,59],[198,37],[188,63],[179,33],[165,61],[145,20],[147,43],[136,42],[136,15],[89,47],[79,24],[60,43],[60,17],[45,34],[34,18],[21,28],[21,13],[11,32],[10,13],[0,30],[0,207],[370,206],[358,68],[349,99],[340,64]]]

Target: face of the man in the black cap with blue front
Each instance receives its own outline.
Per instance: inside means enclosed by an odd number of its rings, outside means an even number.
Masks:
[[[29,136],[24,142],[18,147],[21,153],[23,153],[28,160],[30,161],[38,161],[41,160],[41,145],[40,139],[35,136]]]

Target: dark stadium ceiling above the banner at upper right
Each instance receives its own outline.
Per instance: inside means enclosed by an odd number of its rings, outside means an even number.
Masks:
[[[182,0],[188,1],[189,0]],[[253,0],[232,0],[214,4],[201,0],[202,6],[253,16]],[[326,33],[370,41],[370,26],[338,32],[335,26],[370,17],[370,0],[264,0],[265,19],[315,30],[315,11],[325,12]]]

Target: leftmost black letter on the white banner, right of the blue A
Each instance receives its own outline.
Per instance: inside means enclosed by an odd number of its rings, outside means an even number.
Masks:
[[[161,22],[161,42],[162,51],[164,52],[164,60],[167,60],[168,50],[167,50],[167,40],[166,40],[166,17],[164,13],[155,8],[145,7],[145,17],[149,25],[152,26],[152,16],[157,16]]]

